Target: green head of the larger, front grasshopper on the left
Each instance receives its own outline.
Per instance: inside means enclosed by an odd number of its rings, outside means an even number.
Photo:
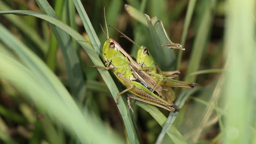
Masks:
[[[119,52],[118,46],[120,45],[112,38],[105,41],[102,48],[102,57],[105,62],[109,62],[115,57]]]

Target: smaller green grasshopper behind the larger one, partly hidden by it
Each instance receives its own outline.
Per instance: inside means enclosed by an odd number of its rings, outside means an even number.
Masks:
[[[111,27],[111,28],[114,28],[114,27]],[[116,28],[114,28],[114,29],[117,30],[119,33],[121,33],[123,35],[123,37],[125,37],[126,39],[128,39],[130,42],[132,42],[133,44],[135,44],[138,47],[137,63],[141,66],[141,69],[137,69],[137,70],[138,71],[140,71],[140,70],[147,71],[147,73],[149,75],[151,75],[151,77],[156,82],[158,82],[157,84],[162,86],[162,92],[163,92],[162,98],[166,99],[169,102],[172,102],[174,100],[175,93],[173,92],[171,87],[186,87],[189,89],[195,87],[195,85],[196,85],[195,83],[182,82],[182,81],[177,81],[175,79],[172,79],[172,78],[177,77],[180,74],[180,72],[178,70],[162,71],[161,69],[159,69],[157,67],[154,58],[152,57],[152,55],[149,53],[148,49],[145,46],[143,46],[143,45],[139,46],[137,43],[132,41],[132,39],[127,37],[121,31],[119,31]],[[177,47],[176,49],[179,49],[179,47]],[[180,50],[183,50],[182,47]],[[132,68],[132,70],[136,70],[136,69]],[[153,89],[153,91],[154,91],[154,89]],[[168,96],[168,97],[166,97],[166,96]]]

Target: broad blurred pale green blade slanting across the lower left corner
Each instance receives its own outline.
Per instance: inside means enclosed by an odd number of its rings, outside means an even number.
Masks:
[[[56,97],[55,93],[47,91],[47,87],[43,84],[45,82],[38,79],[31,70],[1,53],[0,70],[0,78],[10,82],[59,124],[65,126],[71,133],[75,133],[82,143],[124,143],[116,137],[116,134],[107,132],[98,119],[90,116],[86,111],[83,116],[78,108],[67,105],[65,101]],[[24,83],[25,81],[29,83]]]

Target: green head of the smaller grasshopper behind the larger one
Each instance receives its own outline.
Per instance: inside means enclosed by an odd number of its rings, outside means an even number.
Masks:
[[[147,47],[143,45],[140,46],[137,52],[137,63],[139,63],[141,67],[148,67],[149,65],[151,65],[151,62],[154,62],[154,59],[152,55],[150,55]],[[143,65],[146,65],[146,66],[143,66]]]

